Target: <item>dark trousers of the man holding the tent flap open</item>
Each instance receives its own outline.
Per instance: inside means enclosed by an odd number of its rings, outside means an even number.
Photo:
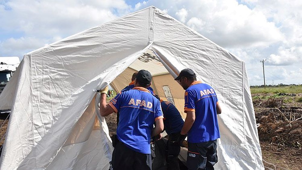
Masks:
[[[118,142],[112,153],[113,170],[151,170],[151,154],[135,152]]]

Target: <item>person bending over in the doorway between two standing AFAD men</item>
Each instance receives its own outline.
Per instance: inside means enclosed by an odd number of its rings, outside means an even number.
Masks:
[[[168,170],[179,170],[177,157],[180,152],[180,146],[186,137],[186,135],[180,134],[184,120],[182,120],[177,108],[169,101],[160,100],[160,105],[164,115],[164,130],[169,135],[165,153]]]

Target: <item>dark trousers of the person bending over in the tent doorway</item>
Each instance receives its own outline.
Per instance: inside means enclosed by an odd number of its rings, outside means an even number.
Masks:
[[[169,140],[166,145],[166,161],[168,170],[179,170],[177,158],[180,152],[179,136],[180,132],[169,134]]]

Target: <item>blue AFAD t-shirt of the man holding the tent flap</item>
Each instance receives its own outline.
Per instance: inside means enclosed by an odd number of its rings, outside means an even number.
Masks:
[[[146,88],[135,87],[120,92],[109,105],[120,114],[118,140],[136,152],[150,154],[153,124],[163,118],[159,100]]]

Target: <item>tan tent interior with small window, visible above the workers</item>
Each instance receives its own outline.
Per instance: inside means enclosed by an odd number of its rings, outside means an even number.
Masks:
[[[138,59],[118,75],[110,86],[118,93],[131,82],[134,72],[144,69],[152,75],[151,87],[154,93],[164,101],[173,103],[182,117],[185,118],[184,94],[185,90],[176,82],[173,76],[165,68],[153,50],[147,49]]]

